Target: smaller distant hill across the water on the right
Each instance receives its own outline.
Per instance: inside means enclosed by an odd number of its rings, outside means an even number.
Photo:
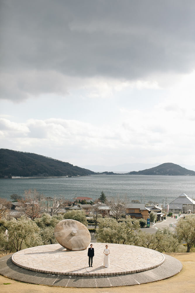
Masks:
[[[130,175],[195,175],[195,172],[173,163],[164,163],[157,167],[145,169],[138,172],[132,171],[127,174],[130,174]]]

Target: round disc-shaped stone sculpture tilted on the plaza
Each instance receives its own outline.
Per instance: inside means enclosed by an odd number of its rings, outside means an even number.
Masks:
[[[71,219],[60,221],[54,229],[54,236],[61,246],[73,251],[86,249],[91,241],[87,227]]]

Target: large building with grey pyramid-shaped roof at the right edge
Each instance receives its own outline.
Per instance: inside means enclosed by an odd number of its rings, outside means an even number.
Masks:
[[[181,213],[195,213],[195,201],[187,196],[185,193],[182,193],[179,197],[174,199],[169,204],[169,212],[179,214]]]

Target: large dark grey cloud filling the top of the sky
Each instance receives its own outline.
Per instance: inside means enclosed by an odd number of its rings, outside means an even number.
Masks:
[[[2,98],[67,94],[63,80],[49,79],[46,86],[34,80],[31,86],[28,75],[18,80],[18,72],[133,80],[190,71],[195,65],[194,14],[190,0],[1,1],[1,71],[13,79],[11,89],[7,77]],[[51,83],[60,85],[47,89]]]

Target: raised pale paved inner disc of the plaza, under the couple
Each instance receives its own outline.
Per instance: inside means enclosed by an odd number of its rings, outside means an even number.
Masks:
[[[163,264],[164,256],[152,249],[109,244],[110,266],[103,267],[105,243],[94,243],[93,267],[89,268],[87,250],[67,251],[60,244],[31,247],[12,255],[15,265],[28,270],[69,276],[111,276],[143,272]]]

